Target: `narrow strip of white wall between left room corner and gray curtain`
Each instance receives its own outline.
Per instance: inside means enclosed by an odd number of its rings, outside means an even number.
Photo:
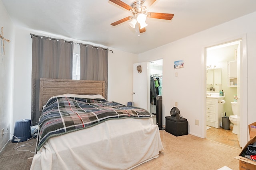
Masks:
[[[20,119],[31,119],[32,39],[23,29],[15,29],[13,127]]]

